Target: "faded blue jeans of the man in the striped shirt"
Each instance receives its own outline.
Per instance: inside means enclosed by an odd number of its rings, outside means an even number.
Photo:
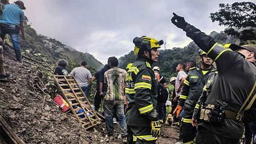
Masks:
[[[127,136],[127,126],[124,115],[124,100],[103,100],[103,110],[108,135],[113,135],[113,118],[116,114],[121,128],[121,136]]]

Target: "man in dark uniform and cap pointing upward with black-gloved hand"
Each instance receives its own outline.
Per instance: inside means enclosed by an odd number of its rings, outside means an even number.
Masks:
[[[173,14],[172,23],[207,52],[218,69],[205,101],[208,110],[200,111],[205,118],[198,125],[196,144],[238,144],[244,132],[242,119],[256,121],[256,48],[235,44],[225,48],[184,17]],[[214,115],[209,117],[209,112]]]

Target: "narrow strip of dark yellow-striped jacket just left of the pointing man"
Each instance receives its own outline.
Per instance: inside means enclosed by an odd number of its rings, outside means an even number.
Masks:
[[[209,94],[210,91],[211,91],[212,83],[214,83],[214,78],[215,78],[215,76],[216,76],[217,74],[218,74],[217,69],[214,69],[214,70],[212,70],[212,71],[210,72],[210,74],[208,75],[207,80],[206,80],[206,84],[204,85],[204,88],[203,88],[203,92],[202,92],[202,94],[201,94],[201,96],[200,96],[198,102],[196,103],[196,107],[195,107],[195,109],[194,109],[194,114],[193,114],[193,118],[194,118],[194,119],[198,119],[198,116],[199,116],[198,114],[200,114],[200,113],[198,113],[198,112],[199,112],[199,107],[200,107],[201,105],[203,105],[204,102],[206,101],[207,96],[208,96],[208,94]]]

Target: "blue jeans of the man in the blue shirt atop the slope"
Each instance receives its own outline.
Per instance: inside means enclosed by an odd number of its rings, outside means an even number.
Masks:
[[[10,37],[12,38],[12,45],[14,50],[20,50],[20,36],[19,32],[16,30],[16,26],[14,25],[4,25],[1,26],[0,30],[0,37],[2,40],[4,40],[4,36],[6,34],[9,34]]]

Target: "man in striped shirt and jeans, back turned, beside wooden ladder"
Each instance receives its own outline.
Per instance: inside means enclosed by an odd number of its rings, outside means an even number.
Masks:
[[[114,56],[109,58],[108,65],[110,69],[104,73],[104,83],[107,85],[107,94],[103,101],[108,136],[113,135],[113,118],[114,115],[117,115],[123,142],[127,143],[127,126],[124,115],[124,91],[127,72],[126,70],[118,68],[118,59]]]

